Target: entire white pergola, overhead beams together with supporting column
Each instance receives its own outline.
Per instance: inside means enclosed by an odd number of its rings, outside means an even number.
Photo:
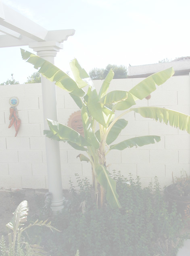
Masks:
[[[54,63],[54,57],[63,49],[63,41],[75,34],[74,29],[48,31],[0,0],[0,47],[29,46],[37,55]],[[44,129],[48,130],[46,118],[57,121],[56,88],[42,76],[42,100]],[[60,149],[57,141],[46,140],[48,187],[52,193],[52,210],[63,208]]]

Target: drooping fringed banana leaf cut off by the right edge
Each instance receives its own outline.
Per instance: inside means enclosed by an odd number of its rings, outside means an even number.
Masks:
[[[190,133],[190,115],[162,107],[136,107],[132,108],[132,110],[144,118],[153,118],[156,121],[159,120],[159,122],[163,121],[165,124],[169,123],[170,126]]]

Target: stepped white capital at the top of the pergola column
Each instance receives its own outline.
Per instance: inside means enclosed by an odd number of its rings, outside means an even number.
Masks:
[[[56,41],[43,41],[29,43],[29,48],[32,48],[40,57],[52,56],[55,57],[60,49],[63,49],[63,44]]]

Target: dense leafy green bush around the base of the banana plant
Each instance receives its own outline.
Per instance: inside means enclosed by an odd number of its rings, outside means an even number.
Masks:
[[[55,218],[53,225],[61,230],[53,238],[44,234],[46,250],[54,256],[174,256],[183,242],[179,233],[182,220],[175,206],[169,207],[158,179],[145,189],[140,179],[123,178],[114,172],[121,209],[109,204],[98,209],[92,200],[87,179],[78,176],[80,191],[71,183],[71,200]],[[177,234],[177,235],[176,235]]]

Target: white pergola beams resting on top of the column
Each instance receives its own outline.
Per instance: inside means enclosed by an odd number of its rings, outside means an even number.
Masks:
[[[75,34],[74,29],[48,31],[25,16],[0,2],[0,48],[24,46],[33,42],[67,40]]]

